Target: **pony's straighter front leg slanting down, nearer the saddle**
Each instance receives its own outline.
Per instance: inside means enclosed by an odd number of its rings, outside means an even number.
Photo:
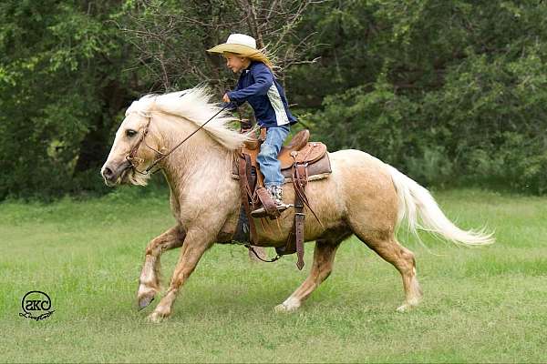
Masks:
[[[206,230],[201,227],[188,230],[181,256],[171,277],[169,290],[149,316],[152,322],[160,322],[161,319],[170,316],[179,289],[190,277],[205,250],[212,246],[213,239],[214,235],[206,234]]]

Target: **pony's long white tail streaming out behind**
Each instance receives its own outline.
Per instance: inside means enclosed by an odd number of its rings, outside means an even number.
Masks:
[[[494,238],[492,234],[485,233],[484,230],[462,230],[455,226],[448,217],[440,210],[435,199],[429,194],[428,190],[421,187],[403,175],[396,168],[387,166],[393,184],[397,189],[398,214],[397,225],[403,219],[407,219],[408,230],[418,239],[418,228],[446,238],[456,244],[466,246],[479,246],[492,244]]]

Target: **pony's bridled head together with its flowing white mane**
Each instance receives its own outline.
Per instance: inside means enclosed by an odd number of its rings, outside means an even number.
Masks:
[[[209,120],[200,133],[191,136],[189,145],[192,142],[217,143],[228,150],[241,147],[250,135],[233,130],[230,123],[234,118],[227,112],[215,116],[221,109],[210,103],[210,98],[209,90],[198,86],[165,95],[143,96],[134,101],[126,111],[107,161],[101,168],[105,183],[108,186],[146,185],[150,175],[142,175],[139,171],[146,170],[159,157],[156,150],[166,152],[173,143]],[[181,152],[183,147],[177,151]]]

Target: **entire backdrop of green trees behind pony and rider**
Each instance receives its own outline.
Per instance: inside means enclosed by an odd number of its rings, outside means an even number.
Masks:
[[[103,193],[98,167],[132,99],[201,81],[219,93],[233,85],[205,49],[249,32],[242,4],[0,3],[0,199]],[[261,26],[281,36],[284,18],[270,13]],[[308,39],[305,58],[320,59],[285,69],[284,84],[331,150],[365,150],[421,183],[542,194],[545,18],[538,0],[310,5],[278,51],[291,64]]]

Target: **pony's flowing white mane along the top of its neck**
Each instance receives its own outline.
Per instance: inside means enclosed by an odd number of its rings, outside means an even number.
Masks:
[[[138,113],[142,116],[151,116],[154,112],[180,116],[191,121],[196,126],[201,126],[213,115],[221,110],[221,107],[210,102],[211,91],[206,86],[197,86],[188,90],[171,92],[163,95],[146,95],[133,101],[126,111],[126,116]],[[219,142],[223,147],[235,150],[249,139],[246,134],[240,134],[234,130],[230,123],[236,120],[228,112],[221,114],[203,126],[203,129]]]

